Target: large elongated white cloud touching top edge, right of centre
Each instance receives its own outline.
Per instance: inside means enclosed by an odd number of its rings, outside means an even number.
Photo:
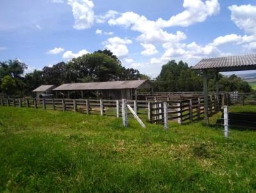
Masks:
[[[173,15],[169,20],[158,19],[157,25],[161,27],[191,26],[197,22],[204,22],[207,17],[216,15],[220,11],[218,0],[184,0],[184,12]]]

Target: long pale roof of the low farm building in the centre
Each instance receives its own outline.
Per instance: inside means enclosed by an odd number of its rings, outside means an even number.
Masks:
[[[112,81],[112,82],[86,82],[86,83],[71,83],[62,84],[54,91],[70,91],[70,90],[100,90],[100,89],[135,89],[144,84],[147,80],[136,81]]]

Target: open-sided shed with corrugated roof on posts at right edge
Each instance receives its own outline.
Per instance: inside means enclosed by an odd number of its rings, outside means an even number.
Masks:
[[[242,70],[256,70],[256,54],[244,56],[226,56],[221,58],[207,58],[202,59],[197,65],[193,67],[194,70],[200,70],[203,73],[204,82],[204,119],[205,123],[209,123],[208,119],[208,82],[207,76],[209,73],[215,74],[216,93],[219,93],[218,73],[232,72]]]

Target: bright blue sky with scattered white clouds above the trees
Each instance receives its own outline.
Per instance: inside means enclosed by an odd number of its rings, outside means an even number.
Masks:
[[[0,61],[32,72],[99,49],[152,78],[173,59],[253,54],[256,1],[1,0]]]

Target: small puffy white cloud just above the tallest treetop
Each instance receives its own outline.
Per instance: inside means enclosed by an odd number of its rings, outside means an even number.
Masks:
[[[122,39],[115,36],[113,38],[108,38],[108,40],[103,43],[105,44],[106,49],[111,50],[117,57],[123,58],[129,53],[126,44],[132,43],[132,40],[127,38]]]

